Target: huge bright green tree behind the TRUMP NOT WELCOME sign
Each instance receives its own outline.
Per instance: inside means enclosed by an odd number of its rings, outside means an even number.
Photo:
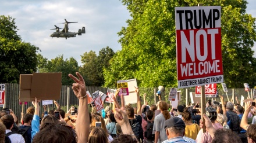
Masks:
[[[122,50],[104,70],[105,86],[116,80],[136,78],[140,87],[177,86],[175,7],[222,6],[222,54],[228,87],[243,87],[255,80],[253,57],[255,19],[246,14],[245,0],[168,1],[123,0],[131,13],[128,27],[119,32]]]

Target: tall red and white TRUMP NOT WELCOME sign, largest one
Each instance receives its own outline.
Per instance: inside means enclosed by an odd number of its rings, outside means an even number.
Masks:
[[[178,88],[223,82],[221,6],[176,7]]]

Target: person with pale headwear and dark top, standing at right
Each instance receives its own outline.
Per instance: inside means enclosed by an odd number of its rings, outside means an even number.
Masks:
[[[234,109],[234,104],[232,102],[227,102],[226,104],[226,108],[227,108],[227,125],[229,125],[229,128],[234,131],[234,133],[239,134],[241,131],[240,128],[240,118],[237,115],[237,113],[235,113],[233,111]]]

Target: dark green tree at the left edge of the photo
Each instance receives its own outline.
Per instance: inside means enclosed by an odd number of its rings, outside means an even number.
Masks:
[[[38,47],[22,42],[15,19],[0,16],[0,82],[19,83],[20,74],[37,69]]]

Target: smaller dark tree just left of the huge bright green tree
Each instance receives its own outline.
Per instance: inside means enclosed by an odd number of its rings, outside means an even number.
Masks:
[[[109,60],[114,54],[115,52],[107,46],[99,50],[98,56],[92,50],[81,56],[83,66],[79,70],[84,75],[87,86],[104,85],[103,69],[109,67]]]

